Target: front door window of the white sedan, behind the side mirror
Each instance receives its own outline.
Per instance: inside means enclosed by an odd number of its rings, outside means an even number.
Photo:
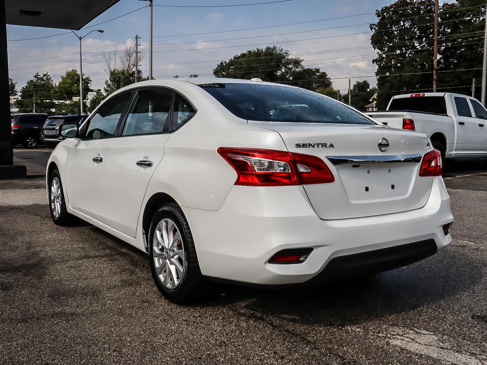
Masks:
[[[115,134],[118,120],[130,101],[131,95],[131,92],[128,92],[107,101],[90,119],[90,124],[86,130],[86,138],[103,139],[112,137]]]

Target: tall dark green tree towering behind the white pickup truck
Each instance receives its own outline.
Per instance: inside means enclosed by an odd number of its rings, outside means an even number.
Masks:
[[[445,2],[439,9],[438,91],[469,94],[472,78],[480,81],[482,33],[486,5],[483,0]],[[430,0],[397,0],[376,11],[371,24],[377,57],[378,109],[393,95],[430,92],[433,87],[434,7]],[[453,70],[468,70],[456,71]],[[445,72],[443,72],[445,71]],[[477,88],[480,93],[480,88]]]

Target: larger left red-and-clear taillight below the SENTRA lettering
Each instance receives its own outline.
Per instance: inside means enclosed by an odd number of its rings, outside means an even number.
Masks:
[[[237,172],[235,185],[280,186],[333,183],[318,157],[262,148],[220,147],[217,152]]]

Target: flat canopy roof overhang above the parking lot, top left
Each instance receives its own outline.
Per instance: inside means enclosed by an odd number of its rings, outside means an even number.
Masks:
[[[119,0],[5,0],[7,24],[78,30]]]

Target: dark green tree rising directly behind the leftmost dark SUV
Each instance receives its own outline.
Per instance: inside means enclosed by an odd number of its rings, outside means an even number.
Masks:
[[[54,109],[53,98],[56,87],[53,79],[48,73],[36,73],[34,77],[27,81],[25,86],[20,89],[19,99],[15,101],[15,105],[19,108],[21,113],[29,113],[34,111],[34,101],[36,104],[36,112],[52,113]],[[34,93],[35,100],[34,100]]]

